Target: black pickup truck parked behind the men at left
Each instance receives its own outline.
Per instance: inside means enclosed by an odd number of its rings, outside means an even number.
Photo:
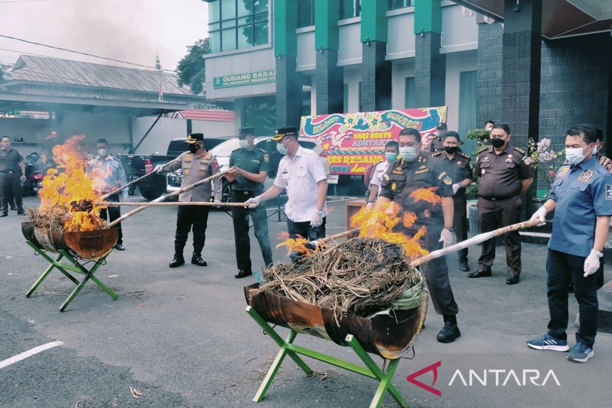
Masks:
[[[226,141],[228,138],[204,138],[204,147],[206,149],[212,149],[217,144]],[[138,155],[138,154],[119,154],[117,157],[121,160],[121,163],[125,169],[125,176],[128,181],[138,179],[138,177],[144,176],[145,174],[152,172],[155,166],[163,165],[168,163],[174,158],[178,157],[182,152],[188,150],[187,144],[185,144],[187,138],[175,138],[168,143],[168,150],[166,155],[160,155],[159,152],[150,155]],[[138,190],[141,195],[147,199],[152,200],[158,198],[166,191],[167,187],[166,176],[163,174],[152,174],[146,179],[138,182]],[[130,188],[130,195],[134,193],[134,188]]]

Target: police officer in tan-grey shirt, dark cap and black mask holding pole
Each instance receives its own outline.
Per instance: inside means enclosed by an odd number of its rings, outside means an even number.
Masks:
[[[211,177],[219,172],[217,159],[211,153],[204,151],[204,135],[202,133],[190,133],[185,143],[189,151],[184,152],[166,165],[155,166],[155,172],[174,171],[182,169],[182,187],[187,187],[195,182]],[[214,202],[221,202],[221,180],[214,180]],[[211,183],[204,183],[179,195],[179,201],[211,201]],[[202,259],[202,249],[206,241],[206,226],[208,223],[209,207],[204,206],[179,206],[176,218],[176,236],[174,237],[174,259],[170,262],[171,268],[176,268],[185,263],[183,248],[187,243],[189,231],[193,228],[193,256],[192,264],[206,266]]]

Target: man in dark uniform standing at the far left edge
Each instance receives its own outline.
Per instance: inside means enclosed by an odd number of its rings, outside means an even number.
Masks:
[[[9,136],[2,136],[0,144],[0,217],[9,215],[9,198],[15,198],[17,214],[23,211],[21,182],[26,181],[26,166],[17,149],[10,147]],[[12,202],[11,202],[12,208]]]

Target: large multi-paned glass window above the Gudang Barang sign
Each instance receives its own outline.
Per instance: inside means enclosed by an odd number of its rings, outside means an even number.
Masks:
[[[268,0],[215,0],[209,3],[209,15],[213,53],[269,42]]]

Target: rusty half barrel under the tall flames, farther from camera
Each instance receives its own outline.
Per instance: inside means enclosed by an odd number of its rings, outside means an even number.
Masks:
[[[27,240],[43,250],[54,253],[64,250],[75,258],[86,261],[97,261],[108,255],[119,237],[119,230],[116,228],[63,232],[27,222],[21,223],[21,232]]]

